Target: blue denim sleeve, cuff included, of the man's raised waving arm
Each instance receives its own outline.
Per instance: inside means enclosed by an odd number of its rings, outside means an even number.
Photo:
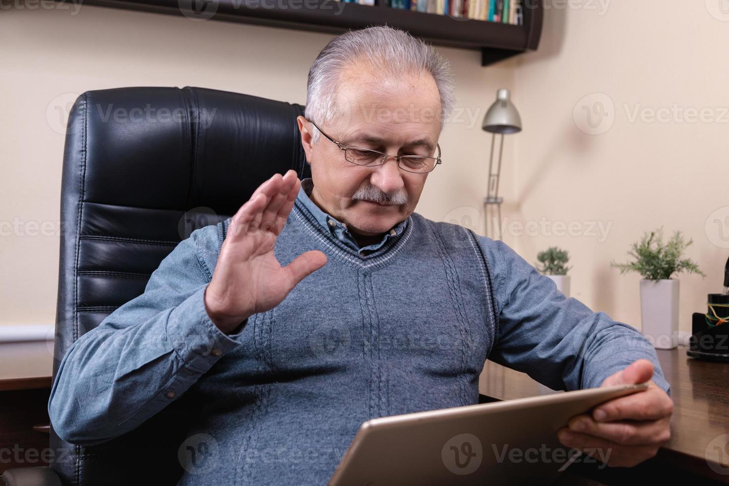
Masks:
[[[192,232],[152,273],[144,294],[71,345],[48,401],[61,439],[93,445],[133,430],[241,343],[245,321],[237,334],[225,334],[205,308],[211,275],[200,254],[217,244],[214,226]]]

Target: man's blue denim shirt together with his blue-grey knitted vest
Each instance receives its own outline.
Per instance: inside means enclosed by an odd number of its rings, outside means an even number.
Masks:
[[[63,356],[48,402],[58,436],[101,444],[190,396],[203,408],[179,424],[180,450],[204,440],[215,454],[205,469],[181,459],[179,485],[325,484],[365,420],[477,403],[486,358],[555,390],[646,358],[670,393],[645,337],[502,241],[413,213],[363,255],[326,218],[300,193],[276,258],[318,249],[328,262],[232,334],[204,304],[227,226],[192,232]]]

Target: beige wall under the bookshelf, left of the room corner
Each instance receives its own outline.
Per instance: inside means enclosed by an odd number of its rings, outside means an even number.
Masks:
[[[73,12],[4,9],[0,15],[0,325],[55,319],[58,237],[39,233],[58,229],[61,112],[76,95],[190,85],[305,103],[308,68],[331,38],[101,7]],[[458,208],[477,209],[483,198],[488,137],[480,117],[496,89],[513,84],[514,71],[508,63],[480,68],[476,51],[440,52],[458,80],[459,117],[444,130],[444,164],[429,177],[418,212],[462,219]],[[475,126],[466,111],[477,116]]]

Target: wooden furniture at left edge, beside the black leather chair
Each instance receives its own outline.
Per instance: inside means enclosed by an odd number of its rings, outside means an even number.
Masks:
[[[53,342],[0,343],[0,473],[47,466]]]

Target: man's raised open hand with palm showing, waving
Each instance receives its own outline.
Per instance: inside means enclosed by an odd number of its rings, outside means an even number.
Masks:
[[[313,250],[281,267],[273,254],[300,185],[295,171],[276,174],[231,219],[205,291],[208,315],[222,332],[233,331],[254,313],[273,309],[306,275],[327,263],[326,255]]]

